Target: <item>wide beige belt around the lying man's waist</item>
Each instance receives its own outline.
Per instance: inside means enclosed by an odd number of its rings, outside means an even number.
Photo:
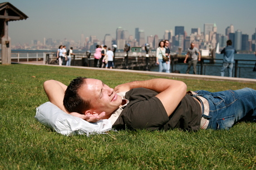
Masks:
[[[204,114],[203,115],[209,116],[209,112],[210,112],[209,102],[204,97],[199,96],[194,91],[188,91],[187,94],[196,95],[196,97],[198,97],[203,102],[203,105],[204,105]],[[209,120],[205,119],[203,115],[201,117],[200,128],[201,129],[206,129],[209,125]]]

